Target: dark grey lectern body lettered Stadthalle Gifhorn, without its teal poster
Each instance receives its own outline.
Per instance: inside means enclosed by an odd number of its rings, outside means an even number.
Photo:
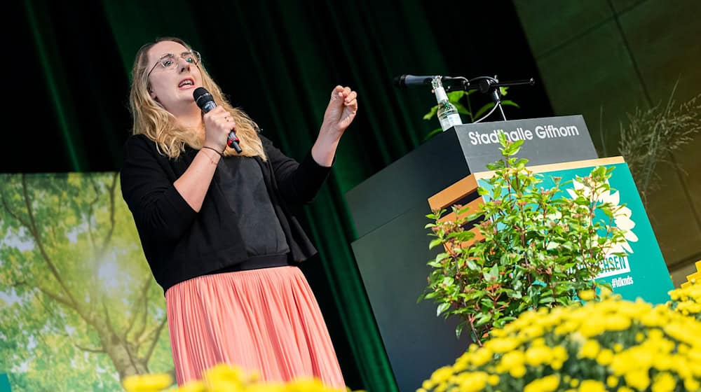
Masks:
[[[529,165],[598,158],[582,116],[458,125],[346,193],[358,232],[351,246],[402,392],[416,391],[470,344],[467,334],[456,339],[457,321],[436,317],[433,302],[417,303],[428,284],[426,262],[437,254],[423,227],[429,197],[502,158],[498,132],[525,140],[518,156]]]

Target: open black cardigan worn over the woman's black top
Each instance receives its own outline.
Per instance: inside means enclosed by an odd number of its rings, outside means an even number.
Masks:
[[[291,209],[313,200],[330,167],[318,165],[311,153],[298,163],[259,136],[268,160],[255,159],[290,246],[290,262],[301,262],[316,249]],[[158,153],[156,143],[145,135],[134,135],[126,141],[124,153],[122,196],[134,216],[151,272],[164,292],[187,279],[247,262],[240,230],[236,219],[230,218],[234,213],[225,208],[227,195],[220,191],[218,176],[212,179],[199,212],[173,186],[198,151],[186,147],[179,158],[172,160]],[[224,167],[220,163],[217,170]]]

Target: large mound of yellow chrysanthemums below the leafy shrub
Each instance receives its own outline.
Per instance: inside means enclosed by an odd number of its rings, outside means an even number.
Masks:
[[[526,311],[491,335],[417,392],[701,391],[701,322],[665,305],[608,295]]]

